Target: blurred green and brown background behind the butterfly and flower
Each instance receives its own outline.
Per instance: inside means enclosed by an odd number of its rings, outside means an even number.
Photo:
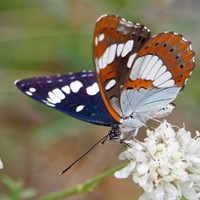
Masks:
[[[96,19],[104,13],[143,23],[152,34],[182,33],[193,43],[198,66],[199,10],[199,0],[1,0],[0,158],[4,169],[0,171],[0,199],[9,196],[4,175],[35,188],[41,196],[121,164],[118,155],[124,149],[117,142],[106,142],[58,176],[109,129],[40,105],[17,90],[16,79],[93,70],[92,33]],[[199,76],[197,67],[167,118],[178,126],[185,123],[191,132],[200,130]],[[141,192],[131,178],[110,176],[93,192],[70,199],[137,199]]]

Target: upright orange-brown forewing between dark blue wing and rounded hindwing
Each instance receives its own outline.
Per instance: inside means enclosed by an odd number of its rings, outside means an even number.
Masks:
[[[95,26],[93,58],[103,101],[116,121],[121,119],[119,109],[122,86],[137,56],[148,40],[150,31],[141,24],[113,16],[101,16]]]

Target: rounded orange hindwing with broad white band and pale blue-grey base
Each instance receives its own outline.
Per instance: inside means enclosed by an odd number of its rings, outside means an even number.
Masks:
[[[121,94],[124,116],[136,113],[144,123],[154,118],[177,97],[194,67],[191,42],[181,34],[165,32],[149,39],[131,66]]]

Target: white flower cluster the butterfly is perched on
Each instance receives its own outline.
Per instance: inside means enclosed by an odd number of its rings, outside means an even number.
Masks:
[[[119,158],[130,163],[115,172],[115,177],[132,175],[133,181],[145,191],[140,200],[177,200],[182,196],[200,199],[198,135],[192,138],[185,128],[175,128],[164,121],[154,131],[147,130],[144,142],[125,143],[127,150]]]

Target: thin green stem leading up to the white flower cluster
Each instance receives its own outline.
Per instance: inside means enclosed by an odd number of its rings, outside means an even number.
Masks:
[[[82,194],[82,193],[86,193],[86,192],[90,192],[93,190],[94,187],[96,187],[101,181],[103,181],[103,179],[106,176],[109,176],[111,174],[113,174],[114,172],[122,169],[123,167],[125,167],[127,165],[123,164],[120,166],[117,166],[113,169],[110,169],[88,181],[86,181],[83,184],[78,184],[70,189],[67,190],[61,190],[61,191],[57,191],[48,195],[45,195],[43,197],[40,197],[38,200],[59,200],[59,199],[63,199],[65,197],[70,197],[73,195],[78,195],[78,194]]]

